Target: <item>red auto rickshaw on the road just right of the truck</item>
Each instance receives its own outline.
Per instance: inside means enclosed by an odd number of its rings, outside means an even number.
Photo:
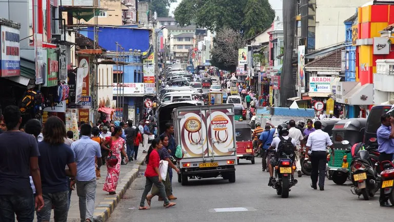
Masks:
[[[254,164],[252,129],[249,123],[235,122],[235,139],[237,141],[237,162],[240,159],[251,160]]]

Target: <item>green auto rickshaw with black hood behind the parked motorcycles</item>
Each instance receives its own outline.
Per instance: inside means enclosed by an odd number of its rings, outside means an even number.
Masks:
[[[327,174],[332,177],[332,181],[338,185],[346,182],[350,175],[351,153],[349,147],[363,142],[366,118],[341,119],[332,128],[332,143],[334,155],[327,156]],[[348,140],[350,146],[342,144],[342,140]]]

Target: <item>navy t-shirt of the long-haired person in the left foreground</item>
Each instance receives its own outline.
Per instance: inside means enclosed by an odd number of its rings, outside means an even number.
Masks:
[[[74,152],[66,144],[51,145],[45,141],[38,143],[38,150],[43,193],[67,191],[65,166],[75,163]]]

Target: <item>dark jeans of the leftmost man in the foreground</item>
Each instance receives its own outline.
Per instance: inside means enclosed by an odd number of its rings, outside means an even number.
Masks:
[[[34,219],[34,196],[0,195],[0,221],[30,222]]]

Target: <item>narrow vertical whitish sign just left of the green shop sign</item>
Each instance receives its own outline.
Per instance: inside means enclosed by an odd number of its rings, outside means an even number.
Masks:
[[[44,83],[46,64],[43,56],[43,34],[34,33],[35,84]]]

